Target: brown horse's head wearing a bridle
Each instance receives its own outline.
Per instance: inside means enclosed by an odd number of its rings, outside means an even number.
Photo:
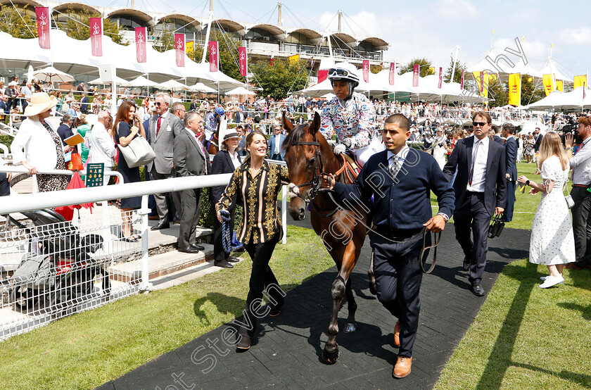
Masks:
[[[320,155],[317,153],[319,150],[317,135],[322,137],[321,134],[317,134],[320,128],[320,115],[314,114],[311,125],[306,123],[294,127],[284,113],[283,125],[288,133],[283,147],[286,149],[285,161],[289,171],[289,180],[296,186],[310,183],[316,177],[318,167],[321,165]],[[303,199],[310,191],[310,187],[308,184],[290,191],[291,201],[288,210],[294,220],[303,220],[306,215],[306,204]],[[293,191],[296,191],[296,194],[299,192],[300,196],[296,196]]]

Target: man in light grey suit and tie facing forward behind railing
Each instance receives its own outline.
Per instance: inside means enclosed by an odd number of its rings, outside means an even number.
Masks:
[[[151,180],[162,180],[174,177],[172,165],[172,151],[174,137],[184,129],[184,125],[176,115],[168,111],[170,106],[170,95],[160,92],[155,97],[156,113],[150,118],[148,126],[150,146],[154,149],[155,160],[148,165]],[[169,207],[167,194],[154,194],[156,208],[158,209],[158,225],[152,230],[167,229],[169,223]],[[174,205],[179,209],[180,205]],[[172,216],[174,217],[174,215]]]

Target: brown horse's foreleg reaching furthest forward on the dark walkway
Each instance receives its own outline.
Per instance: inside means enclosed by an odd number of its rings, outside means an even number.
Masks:
[[[335,255],[337,255],[337,253],[335,253]],[[336,359],[338,358],[338,344],[336,344],[336,335],[338,334],[338,310],[341,308],[341,302],[343,302],[343,298],[345,297],[345,285],[347,284],[353,267],[355,267],[355,260],[357,260],[355,258],[355,244],[350,241],[349,244],[345,246],[341,269],[338,271],[338,276],[331,288],[333,312],[331,323],[329,325],[329,339],[326,341],[324,351],[322,351],[322,358],[329,364],[336,363]]]

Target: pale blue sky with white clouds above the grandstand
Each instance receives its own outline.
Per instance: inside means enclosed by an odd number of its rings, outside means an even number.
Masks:
[[[84,2],[120,8],[131,4],[131,0]],[[135,0],[135,7],[206,17],[209,0]],[[277,1],[214,0],[213,8],[216,18],[277,25]],[[485,57],[492,36],[497,54],[507,54],[514,62],[519,57],[504,50],[516,49],[517,37],[535,68],[550,56],[551,44],[552,59],[565,75],[585,75],[591,65],[591,23],[576,18],[578,13],[587,15],[586,1],[284,0],[283,26],[336,30],[338,10],[343,11],[344,32],[380,37],[390,44],[384,54],[386,62],[426,57],[445,69],[459,46],[459,61],[470,65]]]

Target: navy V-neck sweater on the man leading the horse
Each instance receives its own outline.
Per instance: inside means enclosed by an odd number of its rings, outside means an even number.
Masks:
[[[398,175],[388,171],[388,151],[371,156],[352,184],[336,183],[337,199],[355,205],[374,196],[374,225],[381,230],[418,230],[433,216],[431,191],[437,196],[439,212],[451,217],[454,191],[435,158],[410,149]]]

